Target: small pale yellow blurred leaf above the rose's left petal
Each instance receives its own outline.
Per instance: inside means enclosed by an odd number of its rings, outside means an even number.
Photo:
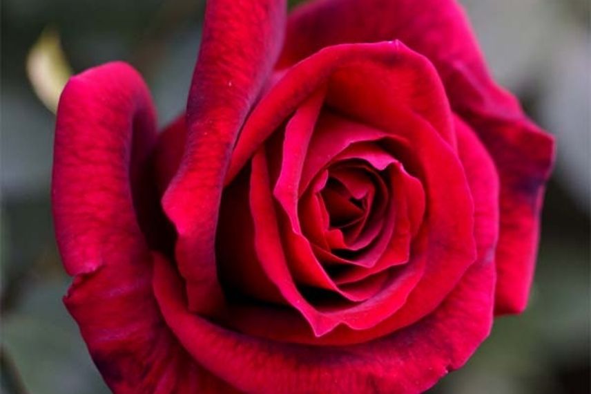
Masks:
[[[59,95],[72,75],[56,30],[43,30],[30,49],[27,75],[39,100],[55,113]]]

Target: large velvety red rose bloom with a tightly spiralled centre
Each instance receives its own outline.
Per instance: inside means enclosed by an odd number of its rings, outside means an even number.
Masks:
[[[211,0],[186,113],[68,82],[64,301],[115,393],[417,393],[532,283],[552,138],[454,0]]]

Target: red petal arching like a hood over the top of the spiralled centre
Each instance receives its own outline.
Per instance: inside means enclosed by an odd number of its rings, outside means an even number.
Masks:
[[[351,86],[347,78],[354,79],[351,83],[371,82],[355,92],[357,100],[383,101],[383,91],[387,90],[389,98],[382,103],[382,109],[389,109],[396,103],[400,108],[413,111],[432,124],[443,140],[455,146],[445,91],[427,59],[399,41],[332,46],[287,70],[262,97],[236,143],[226,184],[287,115],[318,87],[331,82],[335,75],[339,79],[336,88],[342,84],[342,79],[347,87]],[[382,93],[377,93],[380,91]],[[335,91],[332,95],[339,93]],[[349,111],[345,109],[344,113]]]

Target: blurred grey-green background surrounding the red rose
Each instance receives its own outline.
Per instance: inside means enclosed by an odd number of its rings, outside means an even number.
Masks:
[[[556,135],[559,156],[529,308],[498,319],[467,366],[432,393],[590,393],[590,5],[461,3],[494,76]],[[113,59],[131,62],[147,79],[165,124],[184,109],[202,13],[196,0],[1,1],[3,393],[108,393],[61,303],[70,279],[50,215],[54,115],[34,87],[51,96],[48,80],[59,86],[64,69],[53,59],[53,68],[37,64],[31,79],[31,48],[43,31],[54,38],[59,32],[75,73]],[[55,42],[41,43],[41,57],[45,50],[52,59]]]

